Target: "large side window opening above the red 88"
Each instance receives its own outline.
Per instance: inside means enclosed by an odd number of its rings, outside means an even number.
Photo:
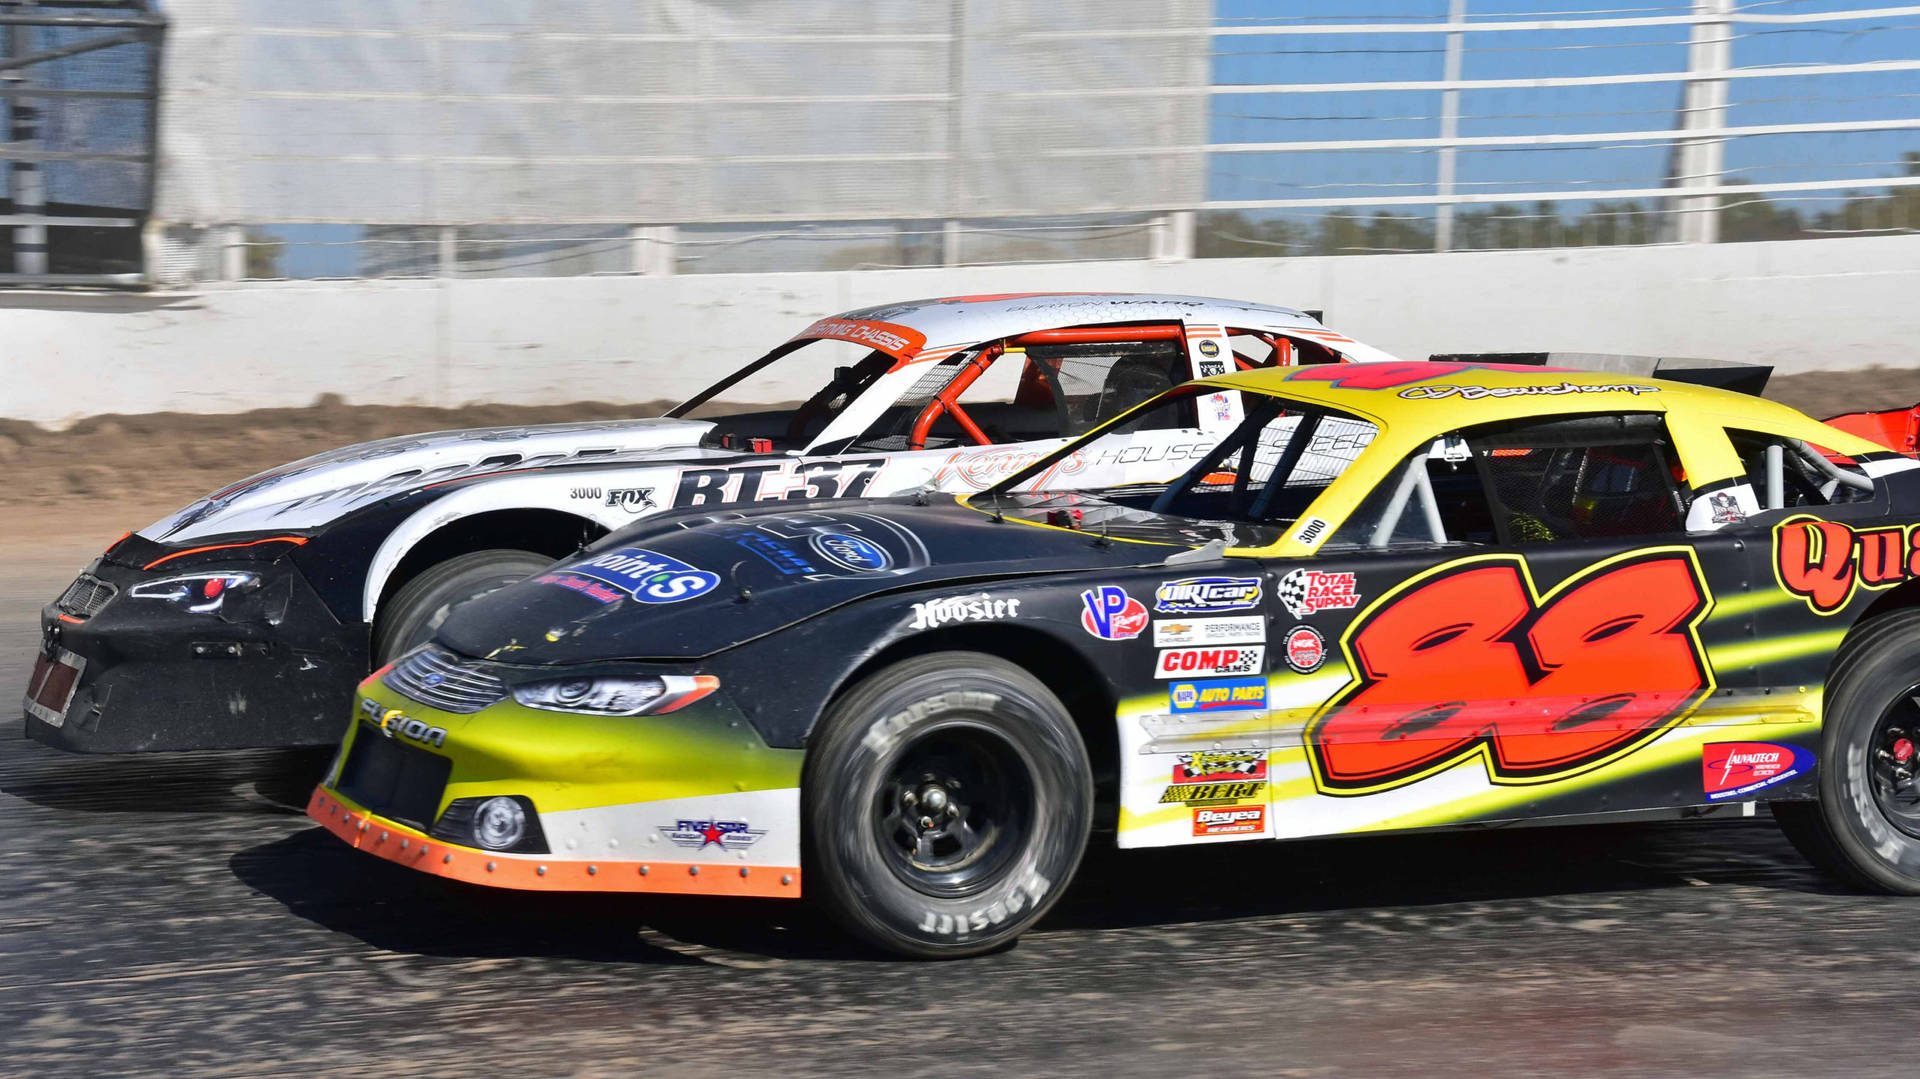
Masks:
[[[1453,432],[1413,453],[1338,543],[1540,543],[1678,534],[1693,492],[1651,413]]]

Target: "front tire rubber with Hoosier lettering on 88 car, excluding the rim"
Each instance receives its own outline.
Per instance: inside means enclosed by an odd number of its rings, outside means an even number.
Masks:
[[[876,806],[891,762],[952,726],[998,733],[1033,787],[1018,856],[977,893],[925,895],[887,864]],[[829,708],[804,779],[806,889],[849,931],[885,950],[947,958],[998,948],[1060,899],[1087,849],[1092,776],[1066,707],[1020,666],[981,653],[937,653],[874,674]]]

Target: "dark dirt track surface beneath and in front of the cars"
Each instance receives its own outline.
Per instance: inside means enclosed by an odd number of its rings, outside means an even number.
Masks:
[[[83,555],[0,564],[0,699]],[[509,895],[300,814],[324,755],[0,728],[0,1075],[1912,1075],[1920,900],[1763,818],[1094,854],[1010,952]]]

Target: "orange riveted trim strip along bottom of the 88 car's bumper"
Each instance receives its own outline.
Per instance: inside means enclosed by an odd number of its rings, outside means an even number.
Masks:
[[[380,820],[324,787],[313,789],[307,816],[355,849],[388,862],[486,887],[524,891],[636,891],[668,895],[741,895],[799,899],[799,866],[728,866],[724,862],[582,862],[543,854],[499,854],[422,835]]]

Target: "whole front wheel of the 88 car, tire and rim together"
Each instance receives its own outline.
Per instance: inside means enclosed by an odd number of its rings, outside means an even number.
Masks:
[[[937,653],[831,707],[803,804],[806,889],[843,927],[895,954],[958,958],[1010,945],[1066,891],[1092,824],[1092,770],[1041,680]]]

